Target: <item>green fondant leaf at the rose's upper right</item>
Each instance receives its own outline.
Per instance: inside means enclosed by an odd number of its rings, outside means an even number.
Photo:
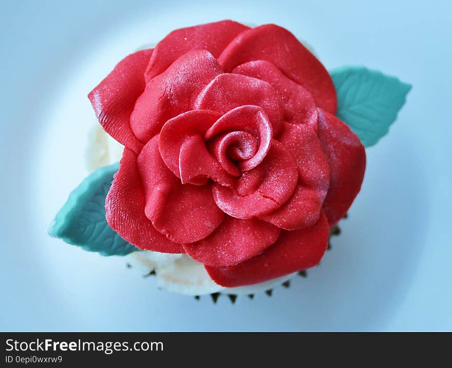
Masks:
[[[330,72],[337,92],[336,115],[369,147],[396,121],[411,85],[361,66]]]

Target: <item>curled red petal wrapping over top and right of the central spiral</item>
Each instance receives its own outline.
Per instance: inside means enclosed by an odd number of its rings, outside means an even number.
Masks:
[[[251,170],[259,165],[270,149],[273,129],[265,111],[258,106],[240,106],[225,113],[218,119],[208,131],[205,132],[206,140],[214,135],[226,131],[246,131],[254,135],[259,142],[259,148],[253,157],[240,161],[242,170]]]

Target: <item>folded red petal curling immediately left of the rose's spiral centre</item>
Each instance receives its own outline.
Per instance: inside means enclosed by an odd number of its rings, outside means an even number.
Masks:
[[[219,117],[214,111],[192,110],[163,126],[159,138],[161,157],[183,183],[205,184],[206,178],[211,178],[223,185],[232,184],[230,175],[208,152],[201,138]]]

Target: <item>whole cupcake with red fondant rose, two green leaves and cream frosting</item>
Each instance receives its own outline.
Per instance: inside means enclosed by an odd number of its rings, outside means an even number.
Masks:
[[[89,92],[92,172],[49,234],[172,292],[271,295],[321,261],[409,89],[277,25],[175,30]]]

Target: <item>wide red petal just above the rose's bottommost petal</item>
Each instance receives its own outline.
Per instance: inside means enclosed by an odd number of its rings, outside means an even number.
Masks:
[[[281,230],[266,222],[227,216],[207,238],[184,244],[186,253],[205,265],[219,267],[243,262],[273,244]]]

